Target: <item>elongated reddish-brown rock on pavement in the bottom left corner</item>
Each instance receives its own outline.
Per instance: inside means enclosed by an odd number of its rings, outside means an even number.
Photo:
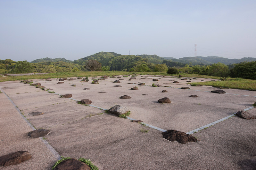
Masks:
[[[1,166],[17,165],[25,160],[31,159],[32,156],[27,151],[17,151],[0,157]]]

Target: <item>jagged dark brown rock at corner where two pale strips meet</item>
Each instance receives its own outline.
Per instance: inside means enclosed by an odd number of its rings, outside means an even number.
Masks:
[[[192,135],[188,135],[185,132],[181,132],[178,130],[167,130],[166,132],[162,132],[163,138],[174,142],[177,141],[181,144],[186,144],[187,142],[197,142],[197,139]]]

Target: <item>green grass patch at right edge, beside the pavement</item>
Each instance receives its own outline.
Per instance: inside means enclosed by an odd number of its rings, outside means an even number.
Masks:
[[[224,78],[222,81],[207,81],[200,83],[188,83],[191,86],[209,85],[212,87],[227,88],[227,89],[241,89],[256,91],[256,80],[249,80],[243,78]]]

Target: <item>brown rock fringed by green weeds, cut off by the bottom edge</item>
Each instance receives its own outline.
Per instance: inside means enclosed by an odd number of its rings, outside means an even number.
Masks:
[[[91,168],[77,159],[67,159],[62,161],[54,170],[91,170]]]

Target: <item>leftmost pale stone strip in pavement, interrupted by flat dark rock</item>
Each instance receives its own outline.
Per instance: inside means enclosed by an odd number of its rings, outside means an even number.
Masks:
[[[12,99],[3,91],[3,89],[0,88],[0,90],[5,94],[5,96],[11,101],[11,103],[13,104],[13,106],[17,109],[17,111],[20,113],[21,117],[25,120],[25,122],[27,122],[27,124],[29,125],[29,127],[32,130],[36,130],[36,128],[33,126],[33,124],[31,122],[29,122],[26,117],[21,113],[20,109],[17,107],[17,105],[12,101]],[[52,145],[46,140],[43,139],[43,137],[39,137],[42,142],[45,144],[45,146],[52,152],[52,154],[55,156],[56,159],[60,160],[61,159],[61,155],[52,147]]]

